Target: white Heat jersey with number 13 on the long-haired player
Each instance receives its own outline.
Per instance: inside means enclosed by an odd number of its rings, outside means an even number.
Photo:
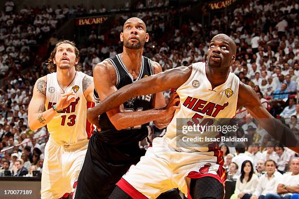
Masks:
[[[60,113],[57,113],[47,124],[50,138],[54,139],[58,144],[73,144],[87,139],[87,101],[83,93],[82,85],[84,77],[84,73],[77,71],[74,80],[69,86],[67,86],[65,91],[63,91],[58,84],[57,73],[47,75],[45,101],[45,107],[47,110],[52,108],[52,106],[58,102],[64,93],[73,91],[76,96],[76,101],[64,108]]]

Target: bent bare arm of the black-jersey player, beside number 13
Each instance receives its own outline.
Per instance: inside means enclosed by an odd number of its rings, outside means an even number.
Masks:
[[[110,62],[104,61],[96,65],[93,71],[94,77],[101,77],[94,79],[95,89],[98,91],[98,95],[101,101],[105,100],[108,96],[117,91],[117,88],[115,86],[116,73],[114,71],[114,68],[112,67],[113,66],[110,64]],[[171,103],[175,104],[176,102],[173,101]],[[175,109],[178,108],[177,106],[168,106],[168,109],[166,110],[151,109],[139,112],[125,112],[122,104],[123,103],[120,103],[113,109],[109,109],[110,111],[107,111],[107,116],[117,130],[163,118],[165,116],[173,114]],[[87,119],[95,125],[98,125],[98,116],[101,115],[98,114],[98,106],[87,110]]]

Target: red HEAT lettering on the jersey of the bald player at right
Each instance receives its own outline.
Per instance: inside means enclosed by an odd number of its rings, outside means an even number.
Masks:
[[[228,102],[223,105],[215,104],[211,101],[207,102],[205,100],[200,100],[197,98],[192,98],[188,96],[188,98],[184,101],[183,105],[192,111],[206,114],[208,116],[216,117],[221,110],[224,110],[225,107],[228,106]]]

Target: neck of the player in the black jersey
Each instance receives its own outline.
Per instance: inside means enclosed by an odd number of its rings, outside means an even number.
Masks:
[[[135,50],[124,47],[124,52],[121,54],[121,58],[129,72],[135,72],[137,74],[139,73],[142,53],[143,48]]]

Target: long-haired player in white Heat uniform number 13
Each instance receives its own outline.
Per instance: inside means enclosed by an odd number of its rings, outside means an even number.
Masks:
[[[42,199],[58,199],[72,193],[88,145],[86,109],[92,104],[93,79],[80,72],[79,50],[64,40],[49,58],[47,76],[38,79],[28,108],[32,130],[47,125],[42,173]]]

